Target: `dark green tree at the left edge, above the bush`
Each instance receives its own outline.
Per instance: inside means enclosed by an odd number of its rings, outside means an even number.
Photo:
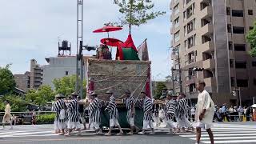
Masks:
[[[16,86],[14,75],[9,70],[11,64],[0,67],[0,95],[10,93]]]

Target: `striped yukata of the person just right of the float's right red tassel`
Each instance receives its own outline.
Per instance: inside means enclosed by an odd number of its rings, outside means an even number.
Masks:
[[[176,101],[170,100],[169,102],[166,102],[166,106],[164,108],[165,115],[166,115],[166,125],[170,128],[175,128],[174,126],[174,116],[175,116],[175,110],[176,110]]]

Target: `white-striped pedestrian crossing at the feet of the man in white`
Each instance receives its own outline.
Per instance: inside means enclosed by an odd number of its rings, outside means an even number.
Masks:
[[[256,126],[238,124],[214,124],[214,143],[256,143]],[[192,133],[180,134],[182,138],[196,140],[196,135]],[[202,143],[210,143],[206,130],[202,130]]]

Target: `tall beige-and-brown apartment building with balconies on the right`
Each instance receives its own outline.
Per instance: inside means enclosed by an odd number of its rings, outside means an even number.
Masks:
[[[248,54],[246,33],[256,20],[255,0],[172,0],[170,21],[174,68],[182,69],[182,92],[197,98],[198,80],[206,82],[216,104],[251,104],[256,96],[256,58]],[[178,59],[179,55],[179,59]],[[205,70],[194,72],[194,67]],[[174,78],[178,79],[177,71]],[[174,90],[180,90],[174,82]],[[231,92],[240,90],[237,96]]]

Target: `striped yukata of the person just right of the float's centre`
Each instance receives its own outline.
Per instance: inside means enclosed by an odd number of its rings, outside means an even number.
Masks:
[[[130,124],[130,126],[134,126],[134,118],[135,118],[135,104],[136,104],[136,100],[133,96],[130,96],[128,98],[124,98],[122,99],[122,102],[126,105],[126,109],[127,109],[127,122]],[[132,110],[134,106],[134,110]],[[132,114],[132,112],[134,111],[134,114]]]

